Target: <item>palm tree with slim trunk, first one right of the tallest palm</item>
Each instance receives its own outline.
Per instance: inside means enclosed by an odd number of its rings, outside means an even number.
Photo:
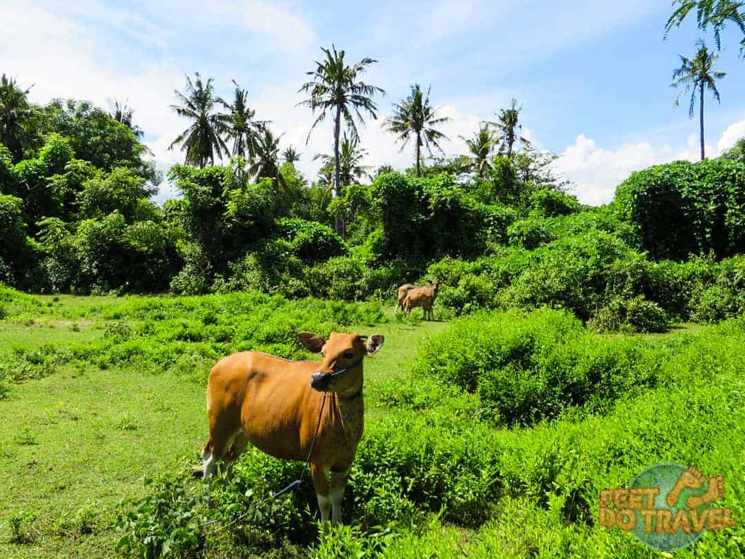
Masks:
[[[427,148],[428,153],[432,154],[431,145],[439,149],[443,154],[443,148],[440,148],[439,141],[448,139],[448,137],[437,130],[440,124],[445,124],[450,120],[447,116],[437,117],[437,110],[429,102],[429,92],[431,86],[427,89],[427,95],[422,94],[419,83],[411,86],[411,95],[402,100],[400,103],[393,104],[393,114],[385,121],[384,126],[388,132],[398,134],[397,142],[404,142],[401,151],[404,150],[409,140],[413,136],[416,139],[416,176],[422,174],[421,171],[421,153],[422,145]]]

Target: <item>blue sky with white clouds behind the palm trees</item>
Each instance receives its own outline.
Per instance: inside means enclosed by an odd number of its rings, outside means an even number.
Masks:
[[[333,42],[350,60],[379,60],[365,79],[387,91],[378,98],[381,118],[411,83],[431,84],[432,101],[452,119],[443,129],[448,154],[463,153],[458,136],[518,98],[525,135],[561,156],[557,171],[575,183],[580,200],[602,203],[635,169],[697,157],[697,120],[688,119],[687,98],[673,107],[677,92],[669,85],[679,53],[693,54],[700,37],[713,46],[693,22],[663,42],[669,0],[617,4],[611,11],[605,1],[583,0],[3,0],[0,72],[35,83],[39,102],[66,96],[106,107],[109,99],[128,98],[164,167],[182,157],[166,148],[186,127],[168,109],[184,75],[214,77],[226,97],[235,78],[249,90],[257,117],[273,121],[283,145],[302,152],[301,168],[312,179],[312,157],[330,151],[331,130],[318,129],[305,145],[312,117],[295,107],[297,89],[320,46]],[[745,136],[740,38],[735,28],[723,34],[722,104],[706,98],[710,155]],[[379,121],[368,122],[362,139],[370,165],[412,160]],[[172,195],[164,185],[159,198]]]

